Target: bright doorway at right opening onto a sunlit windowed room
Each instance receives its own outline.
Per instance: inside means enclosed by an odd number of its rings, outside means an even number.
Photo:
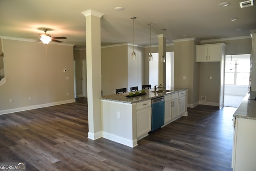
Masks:
[[[224,106],[238,107],[248,93],[250,54],[226,55]]]

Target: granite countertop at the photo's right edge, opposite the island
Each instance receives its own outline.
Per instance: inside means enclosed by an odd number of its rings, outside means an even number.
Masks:
[[[256,91],[247,93],[233,117],[256,120]]]

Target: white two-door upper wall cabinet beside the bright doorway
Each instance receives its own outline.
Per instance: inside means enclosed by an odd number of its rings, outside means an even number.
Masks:
[[[196,45],[196,62],[220,62],[224,47],[224,43]]]

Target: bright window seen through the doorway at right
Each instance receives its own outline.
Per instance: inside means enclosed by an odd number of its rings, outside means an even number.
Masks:
[[[250,54],[227,55],[225,84],[248,85],[250,76]]]

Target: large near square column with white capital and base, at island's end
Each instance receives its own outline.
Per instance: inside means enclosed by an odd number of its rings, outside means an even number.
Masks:
[[[100,18],[104,15],[94,10],[82,12],[86,17],[86,68],[88,99],[88,138],[102,137],[100,97],[101,97],[101,47]]]

